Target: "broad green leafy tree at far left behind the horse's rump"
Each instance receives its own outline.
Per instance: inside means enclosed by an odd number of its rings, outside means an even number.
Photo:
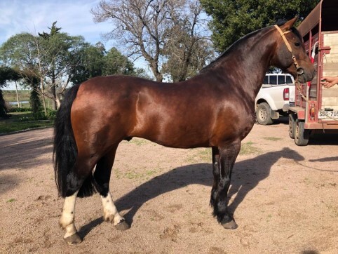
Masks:
[[[50,30],[50,34],[43,32],[39,36],[15,34],[0,48],[3,65],[17,69],[25,83],[36,89],[43,100],[45,113],[45,97],[60,105],[62,93],[78,74],[76,70],[86,64],[83,52],[89,46],[82,36],[59,33],[55,23]],[[34,78],[39,80],[39,86],[36,86]],[[81,81],[86,79],[82,77]]]

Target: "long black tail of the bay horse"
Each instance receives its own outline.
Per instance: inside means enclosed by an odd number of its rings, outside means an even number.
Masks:
[[[79,86],[73,86],[65,95],[64,100],[55,118],[54,126],[54,150],[53,161],[55,171],[55,182],[59,195],[62,197],[72,195],[77,189],[69,189],[67,183],[74,181],[72,172],[76,162],[77,147],[74,139],[72,123],[70,121],[70,110],[76,98]],[[84,180],[78,196],[90,196],[95,192],[93,174]]]

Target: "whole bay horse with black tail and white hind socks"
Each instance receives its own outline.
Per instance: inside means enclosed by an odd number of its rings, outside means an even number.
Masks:
[[[65,241],[82,241],[74,225],[75,201],[94,192],[102,198],[104,220],[119,230],[130,227],[114,205],[109,180],[119,143],[133,137],[166,147],[211,147],[210,205],[224,228],[235,229],[227,207],[231,171],[255,123],[255,97],[266,70],[276,66],[302,83],[314,76],[296,20],[244,36],[187,81],[100,76],[72,87],[55,119],[53,150],[55,182],[65,197]]]

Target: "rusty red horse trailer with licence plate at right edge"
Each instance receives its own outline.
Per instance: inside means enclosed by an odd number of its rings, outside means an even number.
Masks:
[[[320,85],[323,76],[338,75],[337,13],[337,0],[322,0],[297,27],[315,65],[316,76],[295,89],[289,134],[296,145],[308,145],[313,133],[338,133],[338,85],[331,88]]]

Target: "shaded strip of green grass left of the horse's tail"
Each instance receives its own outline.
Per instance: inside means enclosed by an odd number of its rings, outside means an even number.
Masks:
[[[10,119],[0,119],[0,134],[53,126],[53,121],[27,121],[32,119],[32,112],[17,112],[11,115]]]

